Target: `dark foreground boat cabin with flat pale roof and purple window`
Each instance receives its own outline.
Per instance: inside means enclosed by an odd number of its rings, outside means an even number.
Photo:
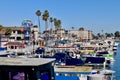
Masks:
[[[0,58],[0,80],[54,80],[55,59]]]

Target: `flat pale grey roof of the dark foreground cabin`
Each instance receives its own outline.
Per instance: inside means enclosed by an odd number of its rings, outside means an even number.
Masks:
[[[46,58],[0,58],[0,66],[40,66],[50,62],[55,59]]]

